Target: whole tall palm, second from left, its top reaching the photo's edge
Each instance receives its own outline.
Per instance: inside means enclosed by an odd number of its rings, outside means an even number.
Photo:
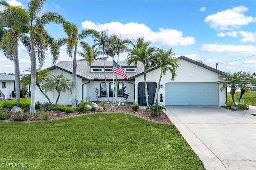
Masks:
[[[62,15],[56,12],[41,12],[46,0],[30,0],[28,2],[28,18],[27,24],[30,36],[30,59],[31,59],[31,101],[30,114],[36,113],[35,93],[36,93],[36,53],[39,62],[38,68],[42,68],[46,61],[45,51],[49,48],[53,57],[52,64],[56,63],[59,57],[59,45],[54,41],[52,36],[48,34],[44,26],[46,24],[64,24],[65,20]]]

